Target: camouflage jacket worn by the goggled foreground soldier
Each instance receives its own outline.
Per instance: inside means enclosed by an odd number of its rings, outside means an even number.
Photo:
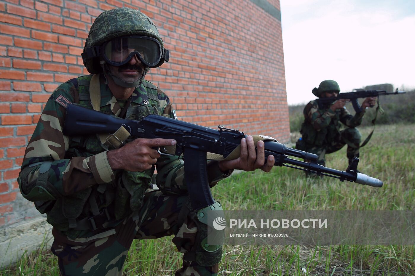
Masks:
[[[77,103],[92,109],[91,77],[72,79],[52,93],[27,145],[18,178],[23,196],[34,201],[39,212],[47,214],[47,221],[70,237],[88,235],[90,231],[74,228],[76,220],[95,216],[105,208],[112,211],[109,226],[137,211],[154,173],[154,166],[144,172],[113,171],[107,160],[107,149],[97,135],[63,135],[66,104]],[[100,111],[119,115],[121,101],[112,95],[103,76],[100,87]],[[172,116],[172,105],[166,94],[146,80],[130,100],[127,119],[140,120],[149,113]],[[165,193],[186,193],[183,165],[183,159],[177,156],[160,157],[156,163],[157,186]],[[222,174],[217,162],[208,162],[207,169],[211,186],[231,173]]]

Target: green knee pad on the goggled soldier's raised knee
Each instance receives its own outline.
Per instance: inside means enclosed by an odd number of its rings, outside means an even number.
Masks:
[[[194,221],[198,228],[195,251],[185,253],[185,259],[195,261],[200,266],[213,266],[219,263],[225,240],[224,219],[225,215],[219,201],[195,211]]]

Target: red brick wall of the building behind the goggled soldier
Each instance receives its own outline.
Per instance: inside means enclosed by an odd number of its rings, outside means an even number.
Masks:
[[[0,0],[0,227],[37,215],[16,182],[24,149],[49,94],[88,74],[80,54],[103,10],[134,7],[154,20],[171,58],[146,79],[179,119],[287,142],[281,21],[256,2]]]

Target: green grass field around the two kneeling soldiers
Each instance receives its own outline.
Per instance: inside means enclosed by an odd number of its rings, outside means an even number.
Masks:
[[[365,137],[371,128],[360,131]],[[381,179],[382,188],[306,179],[300,170],[274,167],[268,174],[235,174],[212,192],[225,210],[414,210],[414,155],[415,124],[376,126],[361,149],[359,170]],[[326,166],[345,170],[346,148],[327,155]],[[134,241],[125,275],[174,275],[182,256],[171,238]],[[0,275],[59,275],[57,267],[43,248]],[[225,246],[220,275],[415,275],[415,246]]]

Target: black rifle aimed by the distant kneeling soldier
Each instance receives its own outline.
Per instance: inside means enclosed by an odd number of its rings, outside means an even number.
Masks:
[[[364,89],[355,89],[354,92],[346,92],[346,93],[339,93],[337,97],[330,97],[330,98],[319,98],[317,99],[317,103],[320,109],[324,109],[329,104],[338,99],[349,99],[352,101],[354,111],[359,113],[362,111],[359,102],[357,99],[359,98],[367,98],[367,97],[378,97],[379,95],[396,95],[396,94],[404,94],[405,91],[398,91],[396,88],[395,92],[386,92],[386,90],[364,90]]]

